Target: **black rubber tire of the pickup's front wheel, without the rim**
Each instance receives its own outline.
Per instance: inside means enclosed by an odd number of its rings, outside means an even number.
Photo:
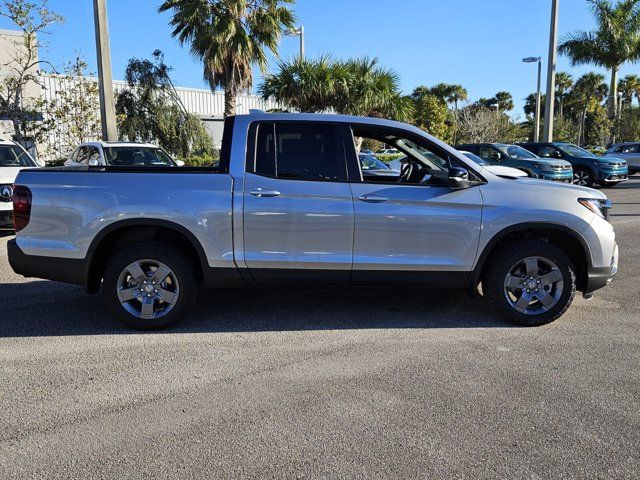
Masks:
[[[538,314],[521,313],[516,310],[507,298],[505,288],[507,276],[511,273],[510,269],[518,262],[530,257],[550,260],[555,263],[557,270],[562,274],[562,290],[558,290],[558,299],[555,305]],[[503,318],[518,325],[537,326],[553,322],[571,306],[576,293],[576,275],[571,260],[563,250],[544,239],[531,238],[515,240],[500,248],[499,255],[491,256],[483,275],[482,285],[484,296]],[[524,294],[524,290],[521,292]],[[535,297],[532,300],[534,304],[538,302]],[[542,306],[541,303],[540,306]]]

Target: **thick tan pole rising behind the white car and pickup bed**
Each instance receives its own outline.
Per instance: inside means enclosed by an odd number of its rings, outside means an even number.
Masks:
[[[116,128],[116,110],[113,102],[113,77],[111,76],[111,51],[109,48],[106,0],[93,0],[93,16],[96,29],[96,51],[98,54],[102,139],[113,142],[118,139],[118,130]]]

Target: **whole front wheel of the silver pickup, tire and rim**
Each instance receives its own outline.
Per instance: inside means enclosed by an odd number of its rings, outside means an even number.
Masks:
[[[519,240],[490,259],[483,292],[507,320],[543,325],[567,311],[576,276],[571,260],[557,246],[542,239]]]

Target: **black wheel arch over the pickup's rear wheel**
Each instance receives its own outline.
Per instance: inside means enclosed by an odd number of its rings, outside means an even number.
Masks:
[[[133,218],[112,223],[100,230],[87,251],[86,289],[95,293],[100,288],[102,273],[109,254],[119,247],[145,240],[158,240],[178,245],[192,259],[200,279],[208,265],[204,248],[186,227],[161,219]]]

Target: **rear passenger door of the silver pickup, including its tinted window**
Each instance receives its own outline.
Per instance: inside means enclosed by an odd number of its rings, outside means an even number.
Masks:
[[[348,283],[354,214],[342,129],[252,124],[246,170],[244,260],[256,282]]]

